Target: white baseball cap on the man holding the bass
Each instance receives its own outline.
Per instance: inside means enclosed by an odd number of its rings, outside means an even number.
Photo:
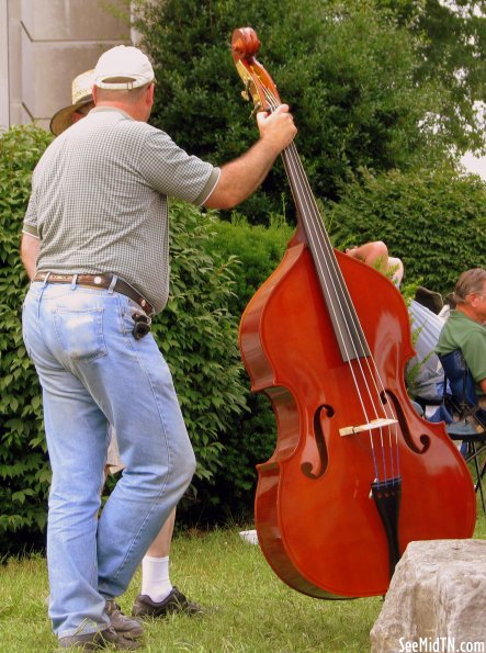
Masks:
[[[116,45],[98,59],[94,83],[100,89],[126,91],[154,81],[154,68],[140,49]]]

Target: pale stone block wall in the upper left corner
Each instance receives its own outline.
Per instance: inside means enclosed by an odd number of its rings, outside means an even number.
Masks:
[[[129,25],[106,0],[0,0],[0,127],[36,124],[71,103],[72,79],[131,43]],[[126,0],[110,0],[126,13]],[[5,58],[8,60],[5,61]]]

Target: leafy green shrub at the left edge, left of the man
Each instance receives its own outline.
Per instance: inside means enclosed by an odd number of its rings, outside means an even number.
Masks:
[[[10,545],[9,533],[19,531],[21,543],[46,521],[50,472],[41,390],[22,340],[27,277],[19,246],[32,170],[49,140],[35,127],[12,127],[0,137],[0,550]]]

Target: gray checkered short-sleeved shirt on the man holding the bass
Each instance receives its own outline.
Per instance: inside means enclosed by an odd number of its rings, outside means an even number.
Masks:
[[[38,236],[38,271],[112,272],[156,311],[169,294],[168,202],[201,205],[219,169],[160,130],[114,108],[93,109],[46,149],[23,230]]]

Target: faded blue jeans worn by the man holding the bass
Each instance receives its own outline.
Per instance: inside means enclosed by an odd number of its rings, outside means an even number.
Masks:
[[[106,628],[105,598],[125,592],[195,470],[169,368],[151,334],[132,335],[140,312],[124,295],[75,284],[34,282],[25,297],[53,470],[47,563],[58,637]],[[98,518],[110,424],[126,469]]]

